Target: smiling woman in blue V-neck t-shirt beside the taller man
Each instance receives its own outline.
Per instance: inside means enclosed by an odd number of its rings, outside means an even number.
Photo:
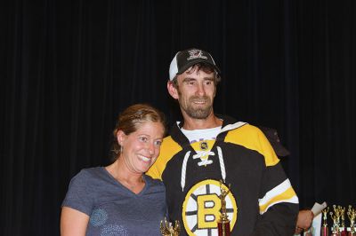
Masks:
[[[81,170],[62,203],[61,235],[159,235],[164,185],[144,173],[156,161],[165,119],[148,105],[129,106],[113,131],[116,161]]]

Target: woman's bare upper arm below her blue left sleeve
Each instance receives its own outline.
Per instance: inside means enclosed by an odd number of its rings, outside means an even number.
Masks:
[[[61,208],[61,236],[85,236],[89,216],[74,208]]]

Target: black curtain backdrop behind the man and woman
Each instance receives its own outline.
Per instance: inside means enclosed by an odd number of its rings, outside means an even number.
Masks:
[[[80,169],[107,165],[117,114],[179,117],[176,51],[211,51],[214,109],[279,130],[302,208],[356,205],[356,2],[5,0],[0,6],[0,234],[59,235]]]

